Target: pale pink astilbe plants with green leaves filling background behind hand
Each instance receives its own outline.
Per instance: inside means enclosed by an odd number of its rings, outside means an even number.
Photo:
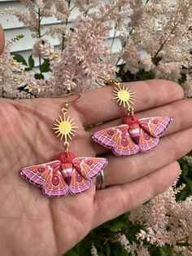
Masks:
[[[192,97],[191,0],[20,0],[12,7],[35,43],[28,60],[7,42],[0,57],[0,95],[46,97],[98,87],[100,77],[130,82],[163,78],[178,82]],[[78,15],[69,22],[72,11]],[[45,29],[42,20],[59,24]],[[111,45],[106,44],[112,34]],[[60,46],[48,36],[58,37]],[[112,51],[119,38],[121,49]],[[38,68],[35,67],[35,58]],[[170,95],[171,97],[171,95]],[[138,209],[103,224],[70,250],[76,255],[192,255],[192,154],[180,160],[181,178]]]

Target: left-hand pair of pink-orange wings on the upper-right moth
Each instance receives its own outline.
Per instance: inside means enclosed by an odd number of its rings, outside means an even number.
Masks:
[[[94,141],[112,149],[117,156],[129,156],[139,152],[137,144],[129,135],[129,126],[122,125],[99,130],[92,136]]]

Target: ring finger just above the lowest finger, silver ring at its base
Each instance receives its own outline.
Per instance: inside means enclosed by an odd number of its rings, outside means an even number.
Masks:
[[[164,137],[157,148],[130,157],[107,157],[106,185],[128,183],[185,156],[192,149],[192,128]]]

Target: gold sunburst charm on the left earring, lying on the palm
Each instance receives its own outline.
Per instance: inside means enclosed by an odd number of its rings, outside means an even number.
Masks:
[[[64,139],[65,143],[68,142],[68,139],[72,139],[72,136],[75,136],[74,133],[76,132],[77,126],[75,126],[75,123],[73,122],[73,119],[70,119],[70,117],[66,117],[66,113],[63,114],[62,117],[59,117],[59,120],[55,120],[57,123],[55,123],[55,128],[53,130],[55,131],[55,134],[57,137],[60,136],[60,140]]]

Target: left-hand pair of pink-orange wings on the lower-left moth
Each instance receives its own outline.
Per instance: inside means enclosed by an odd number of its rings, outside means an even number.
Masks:
[[[46,196],[66,196],[68,184],[59,170],[60,161],[51,161],[38,166],[28,166],[20,170],[23,179],[42,188]]]

